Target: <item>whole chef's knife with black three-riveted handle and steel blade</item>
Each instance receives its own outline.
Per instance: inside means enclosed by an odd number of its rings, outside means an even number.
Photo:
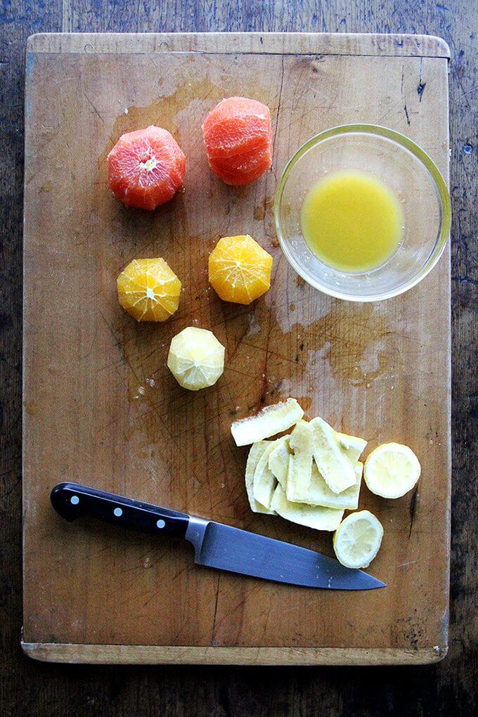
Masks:
[[[312,550],[79,483],[59,483],[51,499],[54,509],[67,521],[94,516],[143,533],[186,538],[193,544],[195,562],[211,568],[305,587],[386,587],[371,575],[345,568],[337,560]]]

